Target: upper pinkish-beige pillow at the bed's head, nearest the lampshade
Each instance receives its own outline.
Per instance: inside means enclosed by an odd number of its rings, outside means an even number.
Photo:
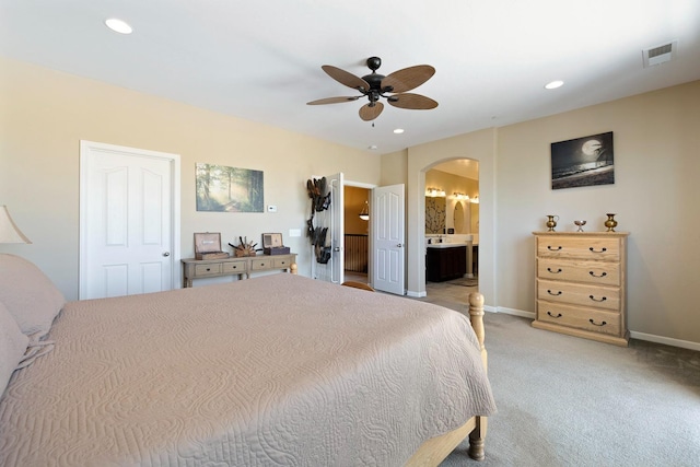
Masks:
[[[24,335],[38,339],[51,328],[66,304],[63,294],[33,262],[0,254],[0,302]]]

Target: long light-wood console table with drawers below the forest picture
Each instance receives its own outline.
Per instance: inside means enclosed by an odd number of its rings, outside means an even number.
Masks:
[[[192,287],[192,280],[215,278],[221,276],[238,276],[238,279],[250,278],[252,272],[267,270],[284,270],[296,272],[296,254],[258,255],[231,257],[222,259],[183,259],[183,287]]]

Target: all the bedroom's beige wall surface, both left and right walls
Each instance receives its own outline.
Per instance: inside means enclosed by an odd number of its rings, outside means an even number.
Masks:
[[[311,175],[343,172],[372,185],[407,185],[407,288],[425,293],[424,176],[451,159],[479,161],[479,288],[495,310],[532,313],[534,243],[545,214],[600,230],[616,212],[629,231],[629,326],[633,337],[700,347],[693,288],[700,277],[700,81],[547,118],[460,135],[377,156],[91,80],[0,59],[0,205],[32,245],[1,245],[25,256],[78,296],[79,141],[180,154],[183,257],[191,234],[224,241],[282,232],[311,272],[305,230]],[[549,144],[615,132],[616,183],[551,190]],[[196,162],[265,171],[266,205],[278,213],[195,211]]]

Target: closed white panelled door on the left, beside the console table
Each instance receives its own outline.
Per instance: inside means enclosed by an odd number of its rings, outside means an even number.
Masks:
[[[83,299],[178,285],[179,156],[81,141]]]

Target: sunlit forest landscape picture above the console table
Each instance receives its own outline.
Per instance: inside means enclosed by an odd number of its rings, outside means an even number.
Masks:
[[[264,212],[262,171],[197,164],[197,210]]]

